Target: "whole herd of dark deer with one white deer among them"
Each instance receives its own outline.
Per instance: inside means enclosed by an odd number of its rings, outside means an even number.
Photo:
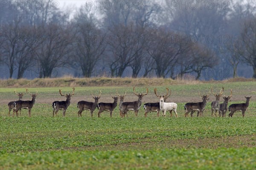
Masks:
[[[75,88],[72,88],[72,94],[66,94],[63,95],[61,93],[61,90],[59,90],[59,94],[61,96],[65,96],[67,99],[65,101],[55,101],[52,102],[52,116],[54,117],[54,115],[56,116],[59,110],[63,111],[63,116],[65,116],[65,113],[67,111],[68,106],[71,103],[71,97],[74,95],[75,93]],[[232,89],[230,89],[230,96],[222,96],[224,93],[224,88],[221,89],[221,91],[218,94],[215,94],[211,88],[212,94],[215,96],[215,101],[213,101],[211,103],[211,111],[212,111],[212,116],[213,113],[215,113],[215,117],[217,117],[217,112],[219,117],[226,117],[226,112],[227,110],[230,112],[229,113],[229,117],[232,117],[233,114],[236,111],[241,111],[242,112],[242,116],[244,117],[244,113],[247,110],[248,106],[249,106],[249,101],[250,101],[250,97],[246,97],[246,102],[245,103],[239,103],[239,104],[232,104],[228,107],[228,102],[230,100],[230,98],[232,97]],[[203,112],[204,109],[206,107],[207,101],[209,100],[209,95],[211,94],[211,91],[209,91],[209,94],[207,95],[201,95],[200,91],[199,91],[199,95],[202,97],[202,102],[189,102],[186,103],[184,105],[185,108],[185,117],[190,113],[190,116],[192,117],[193,113],[195,113],[195,111],[197,111],[197,116],[203,116]],[[13,109],[13,116],[14,113],[16,112],[16,116],[18,116],[18,111],[20,112],[20,116],[21,116],[21,109],[28,109],[29,112],[29,117],[31,115],[31,109],[33,108],[33,105],[35,104],[35,98],[38,95],[38,91],[36,91],[35,94],[31,94],[28,89],[26,88],[26,92],[25,93],[17,93],[16,90],[14,91],[15,94],[17,94],[17,96],[19,96],[19,100],[17,101],[12,101],[8,103],[8,107],[9,107],[9,113],[8,115],[10,116],[10,112]],[[27,101],[23,101],[22,97],[23,95],[25,95],[27,92],[29,92],[30,96],[32,97],[31,100],[27,100]],[[82,116],[82,112],[84,110],[90,111],[90,115],[93,116],[93,111],[98,108],[99,112],[98,112],[98,117],[100,117],[100,114],[104,111],[109,111],[110,112],[110,116],[112,117],[112,113],[114,111],[114,109],[117,106],[117,102],[118,99],[120,99],[120,103],[119,103],[119,115],[121,117],[128,117],[128,112],[129,111],[134,111],[135,116],[138,115],[138,111],[140,110],[140,107],[142,105],[142,99],[143,96],[148,94],[148,88],[146,88],[146,93],[136,93],[135,92],[135,86],[133,88],[133,92],[134,94],[138,97],[138,99],[134,102],[124,102],[125,96],[126,96],[126,91],[125,94],[119,95],[118,91],[116,90],[116,94],[117,96],[112,96],[112,99],[114,100],[113,103],[104,103],[104,102],[100,102],[99,103],[99,99],[102,95],[102,92],[100,91],[99,96],[93,96],[94,102],[87,102],[87,101],[80,101],[77,103],[77,108],[79,109],[78,111],[78,116]],[[145,103],[143,105],[143,108],[145,110],[145,117],[147,117],[147,114],[150,112],[157,112],[157,117],[159,116],[160,111],[162,111],[163,116],[166,116],[166,112],[170,112],[170,116],[172,117],[172,111],[175,113],[176,117],[178,117],[177,115],[177,104],[174,102],[166,102],[166,99],[168,99],[168,97],[171,95],[171,90],[169,91],[169,88],[166,88],[166,94],[165,95],[158,95],[157,94],[157,88],[154,88],[154,94],[160,99],[159,102],[155,102],[155,103]],[[220,98],[224,99],[223,103],[220,103]]]

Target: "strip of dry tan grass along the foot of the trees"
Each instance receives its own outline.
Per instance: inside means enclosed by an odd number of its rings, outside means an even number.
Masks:
[[[61,78],[46,79],[7,79],[0,81],[1,88],[35,88],[35,87],[87,87],[87,86],[143,86],[143,85],[195,85],[208,82],[255,82],[256,79],[235,78],[223,81],[198,81],[194,79],[163,79],[163,78],[73,78],[65,76]]]

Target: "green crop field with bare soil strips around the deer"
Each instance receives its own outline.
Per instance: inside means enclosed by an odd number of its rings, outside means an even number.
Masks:
[[[66,116],[62,111],[52,117],[53,101],[66,98],[60,96],[58,87],[28,88],[30,93],[38,90],[36,104],[29,118],[22,109],[21,116],[8,116],[7,104],[18,99],[15,88],[0,88],[0,169],[256,169],[256,82],[210,82],[182,85],[138,85],[136,92],[148,95],[146,102],[159,102],[154,95],[172,90],[167,102],[176,102],[177,114],[157,117],[156,112],[144,117],[143,106],[138,116],[134,111],[128,117],[119,116],[119,101],[112,118],[108,111],[97,117],[98,110],[83,111],[78,117],[76,103],[81,100],[93,102],[94,96],[102,96],[99,102],[113,102],[110,94],[116,90],[124,101],[135,101],[132,86],[75,87],[75,95]],[[211,117],[211,94],[204,117],[184,117],[186,102],[201,102],[201,94],[215,93],[224,87],[225,96],[233,95],[232,103],[245,102],[244,96],[252,96],[243,118],[236,112],[232,118]],[[71,87],[62,87],[70,93]],[[16,88],[25,92],[25,88]],[[29,94],[23,100],[31,100]],[[220,99],[223,102],[223,99]],[[162,115],[162,113],[160,113]]]

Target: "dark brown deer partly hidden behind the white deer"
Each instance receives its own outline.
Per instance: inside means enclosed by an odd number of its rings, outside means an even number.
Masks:
[[[166,92],[167,92],[167,94],[163,97],[163,101],[164,102],[166,102],[166,99],[171,95],[171,93],[169,94],[169,88],[166,88]],[[156,103],[145,103],[143,105],[143,108],[145,110],[145,117],[147,117],[148,113],[151,113],[151,112],[157,112],[157,117],[159,116],[159,112],[160,112],[160,104],[159,104],[159,102],[156,102]],[[170,111],[170,113],[172,115],[172,111]]]

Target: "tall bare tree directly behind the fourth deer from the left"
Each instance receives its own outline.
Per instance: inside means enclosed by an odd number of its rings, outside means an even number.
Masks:
[[[84,12],[81,7],[75,18],[76,23],[76,63],[82,70],[84,77],[91,77],[93,68],[101,59],[107,43],[102,31],[97,26],[95,14]]]

